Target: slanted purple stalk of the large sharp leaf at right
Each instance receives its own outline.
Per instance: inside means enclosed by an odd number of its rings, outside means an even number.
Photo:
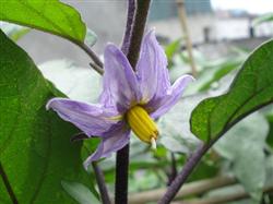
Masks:
[[[218,137],[211,141],[210,143],[202,144],[189,158],[189,160],[183,166],[182,171],[178,173],[176,179],[170,183],[164,196],[158,201],[158,204],[168,204],[176,196],[179,189],[188,179],[189,175],[195,168],[195,166],[201,160],[202,156],[211,148],[211,146],[217,141]]]

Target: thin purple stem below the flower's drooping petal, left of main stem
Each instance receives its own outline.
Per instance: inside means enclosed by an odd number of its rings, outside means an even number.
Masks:
[[[95,177],[96,177],[98,190],[99,190],[99,193],[100,193],[102,202],[103,202],[103,204],[110,204],[111,202],[110,202],[110,197],[109,197],[107,188],[105,185],[103,171],[98,167],[96,161],[93,161],[92,166],[93,166],[93,169],[94,169],[94,172],[95,172]]]

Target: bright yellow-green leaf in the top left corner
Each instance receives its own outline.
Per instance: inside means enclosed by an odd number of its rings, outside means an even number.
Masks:
[[[86,27],[72,7],[58,0],[2,0],[0,20],[83,43]]]

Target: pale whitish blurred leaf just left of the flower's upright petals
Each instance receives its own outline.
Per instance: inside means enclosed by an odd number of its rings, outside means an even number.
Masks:
[[[38,65],[43,75],[69,98],[97,103],[102,76],[71,60],[52,60]]]

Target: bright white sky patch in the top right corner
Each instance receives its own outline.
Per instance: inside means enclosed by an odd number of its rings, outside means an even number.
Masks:
[[[211,0],[214,9],[247,10],[251,14],[273,12],[273,0]]]

